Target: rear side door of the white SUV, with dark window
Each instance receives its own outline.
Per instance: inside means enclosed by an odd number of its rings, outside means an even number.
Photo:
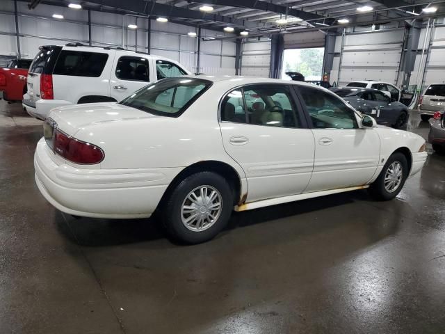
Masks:
[[[149,61],[141,56],[122,56],[116,53],[111,71],[111,97],[122,101],[149,83]]]

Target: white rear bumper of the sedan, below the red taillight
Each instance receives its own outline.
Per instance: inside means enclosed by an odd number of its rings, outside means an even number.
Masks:
[[[180,168],[105,170],[56,164],[40,139],[34,156],[35,183],[54,207],[92,218],[143,218],[156,209],[169,179]]]

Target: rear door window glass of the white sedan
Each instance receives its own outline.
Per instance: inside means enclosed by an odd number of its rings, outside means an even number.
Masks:
[[[224,122],[266,127],[301,125],[290,88],[282,85],[255,85],[232,90],[221,102],[220,116]]]

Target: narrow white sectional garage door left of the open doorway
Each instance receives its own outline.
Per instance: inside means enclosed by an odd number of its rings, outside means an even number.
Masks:
[[[241,75],[247,77],[269,77],[270,40],[247,40],[243,42]]]

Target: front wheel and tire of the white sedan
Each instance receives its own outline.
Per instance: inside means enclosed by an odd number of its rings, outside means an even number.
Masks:
[[[377,200],[392,200],[401,192],[407,176],[407,159],[401,152],[396,152],[389,157],[369,192]]]

